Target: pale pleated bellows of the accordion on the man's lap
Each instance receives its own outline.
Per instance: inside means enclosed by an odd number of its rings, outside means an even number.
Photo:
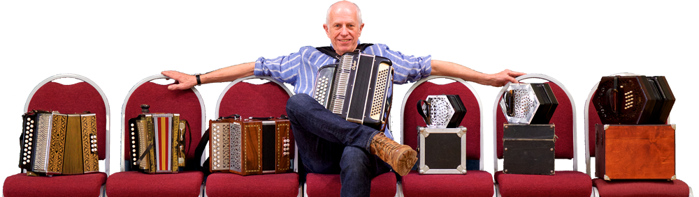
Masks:
[[[352,70],[352,58],[354,56],[343,56],[338,65],[337,75],[335,77],[338,81],[337,86],[333,88],[333,101],[331,105],[331,111],[336,114],[343,113],[343,107],[345,106],[345,95],[347,95],[347,86],[349,86],[349,74]]]

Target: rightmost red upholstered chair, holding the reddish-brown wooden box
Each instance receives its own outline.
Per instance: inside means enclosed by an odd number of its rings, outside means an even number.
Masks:
[[[620,73],[619,76],[637,75],[633,73]],[[591,104],[598,84],[590,90],[585,102],[585,165],[586,173],[591,174],[591,157],[595,157],[595,124],[602,124],[597,109]],[[670,122],[668,118],[668,122]],[[605,181],[600,178],[592,180],[595,187],[595,196],[691,196],[689,187],[682,180],[651,181],[651,180],[613,180]]]

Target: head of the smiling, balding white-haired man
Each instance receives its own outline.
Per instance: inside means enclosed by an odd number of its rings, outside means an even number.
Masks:
[[[354,52],[363,28],[361,10],[356,4],[338,1],[328,8],[323,29],[338,54]]]

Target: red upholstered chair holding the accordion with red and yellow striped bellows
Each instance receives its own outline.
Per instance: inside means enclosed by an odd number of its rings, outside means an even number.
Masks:
[[[196,88],[189,90],[168,90],[167,84],[156,84],[156,79],[166,79],[162,74],[148,77],[131,88],[122,104],[122,152],[121,171],[110,175],[106,194],[115,196],[202,196],[203,178],[201,171],[180,171],[173,174],[145,174],[127,171],[131,155],[126,154],[131,141],[125,139],[129,118],[141,113],[140,105],[149,104],[151,113],[180,113],[180,119],[187,120],[191,135],[185,134],[187,159],[194,158],[194,149],[206,127],[204,102]],[[191,137],[191,139],[190,139]],[[190,143],[191,142],[191,143]],[[196,160],[201,160],[197,158]]]

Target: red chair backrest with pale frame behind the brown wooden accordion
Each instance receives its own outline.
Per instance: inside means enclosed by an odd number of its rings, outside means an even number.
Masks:
[[[264,79],[268,82],[251,84],[245,82],[248,79]],[[215,118],[238,114],[247,117],[279,117],[287,115],[287,100],[291,97],[291,91],[287,86],[265,76],[249,76],[236,79],[231,82],[219,96],[216,104]],[[291,131],[294,132],[294,131]],[[294,140],[294,135],[290,136]],[[291,150],[294,158],[298,158],[296,147]],[[298,172],[298,165],[294,159],[294,171]]]

